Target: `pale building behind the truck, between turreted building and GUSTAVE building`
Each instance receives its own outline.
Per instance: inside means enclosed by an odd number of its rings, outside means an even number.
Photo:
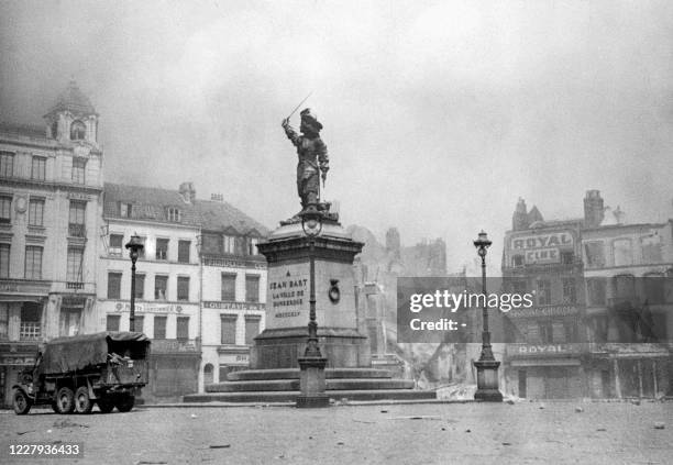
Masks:
[[[152,339],[143,397],[177,400],[196,392],[201,359],[199,217],[189,182],[166,190],[106,182],[99,246],[98,326],[129,331],[131,259],[124,245],[141,237],[136,263],[135,331]]]

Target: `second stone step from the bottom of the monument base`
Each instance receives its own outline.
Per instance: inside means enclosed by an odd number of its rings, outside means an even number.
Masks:
[[[389,378],[332,378],[327,390],[412,389],[411,379]],[[288,391],[299,390],[299,379],[264,379],[254,381],[225,381],[206,386],[207,392]]]

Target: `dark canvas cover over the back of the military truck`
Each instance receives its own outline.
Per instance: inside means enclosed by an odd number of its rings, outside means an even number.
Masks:
[[[46,343],[42,363],[37,369],[43,374],[56,374],[104,364],[108,359],[110,342],[148,345],[150,339],[143,333],[111,331],[57,337]]]

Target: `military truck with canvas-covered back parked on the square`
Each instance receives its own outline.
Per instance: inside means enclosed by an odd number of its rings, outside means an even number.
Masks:
[[[35,365],[19,374],[14,411],[51,405],[57,413],[130,411],[147,384],[150,339],[139,332],[101,332],[47,342]]]

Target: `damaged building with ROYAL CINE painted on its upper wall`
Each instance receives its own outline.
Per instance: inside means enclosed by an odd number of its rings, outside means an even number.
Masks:
[[[544,221],[519,199],[505,234],[504,287],[531,294],[533,306],[503,314],[507,394],[536,399],[585,395],[583,223]]]

